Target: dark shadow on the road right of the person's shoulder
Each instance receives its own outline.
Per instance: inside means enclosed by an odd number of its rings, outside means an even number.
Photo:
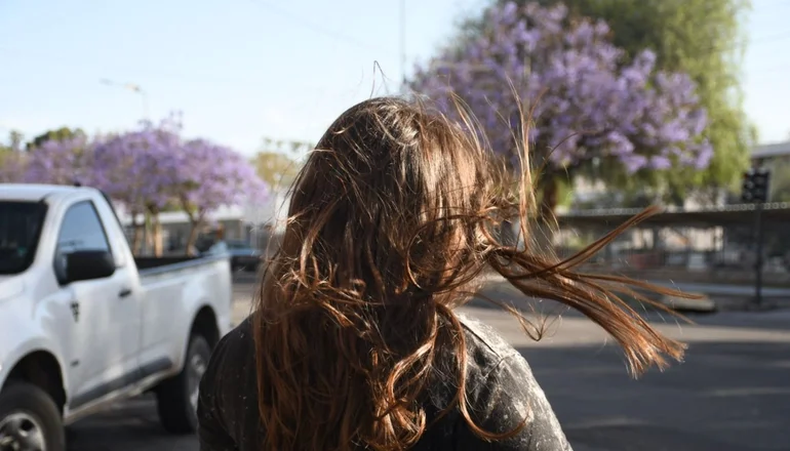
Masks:
[[[694,343],[640,380],[614,346],[525,348],[577,450],[768,451],[790,443],[790,343]]]

